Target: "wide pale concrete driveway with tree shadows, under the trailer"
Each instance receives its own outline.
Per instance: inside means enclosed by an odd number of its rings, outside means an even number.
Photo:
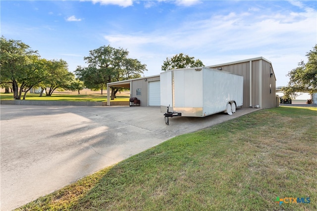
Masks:
[[[1,105],[1,211],[12,210],[173,136],[232,116],[173,117],[159,107]]]

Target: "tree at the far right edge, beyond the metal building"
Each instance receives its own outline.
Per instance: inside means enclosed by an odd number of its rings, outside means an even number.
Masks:
[[[283,88],[287,96],[296,96],[295,92],[317,92],[317,44],[306,54],[308,62],[301,61],[298,67],[286,76],[290,78],[288,85]]]

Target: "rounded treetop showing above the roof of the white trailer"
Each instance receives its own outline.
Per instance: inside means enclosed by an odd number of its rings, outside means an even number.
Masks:
[[[188,68],[188,67],[203,67],[203,62],[199,59],[195,60],[187,54],[179,53],[171,58],[166,58],[162,65],[162,71],[171,69]]]

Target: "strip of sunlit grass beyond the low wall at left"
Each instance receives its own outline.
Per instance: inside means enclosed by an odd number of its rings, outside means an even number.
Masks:
[[[23,96],[22,96],[23,97]],[[21,98],[22,98],[21,97]],[[113,101],[129,101],[130,96],[117,96]],[[1,100],[13,100],[12,93],[1,93]],[[53,94],[52,96],[39,97],[39,94],[27,93],[26,100],[56,100],[56,101],[90,101],[90,102],[106,102],[106,94]],[[111,100],[112,101],[112,100]]]

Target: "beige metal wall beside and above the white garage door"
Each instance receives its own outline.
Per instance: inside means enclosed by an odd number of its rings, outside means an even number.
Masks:
[[[137,97],[141,101],[141,106],[149,105],[149,82],[159,81],[159,76],[150,78],[141,78],[140,80],[133,80],[130,87],[131,97]],[[137,89],[141,88],[141,95],[137,96]]]

